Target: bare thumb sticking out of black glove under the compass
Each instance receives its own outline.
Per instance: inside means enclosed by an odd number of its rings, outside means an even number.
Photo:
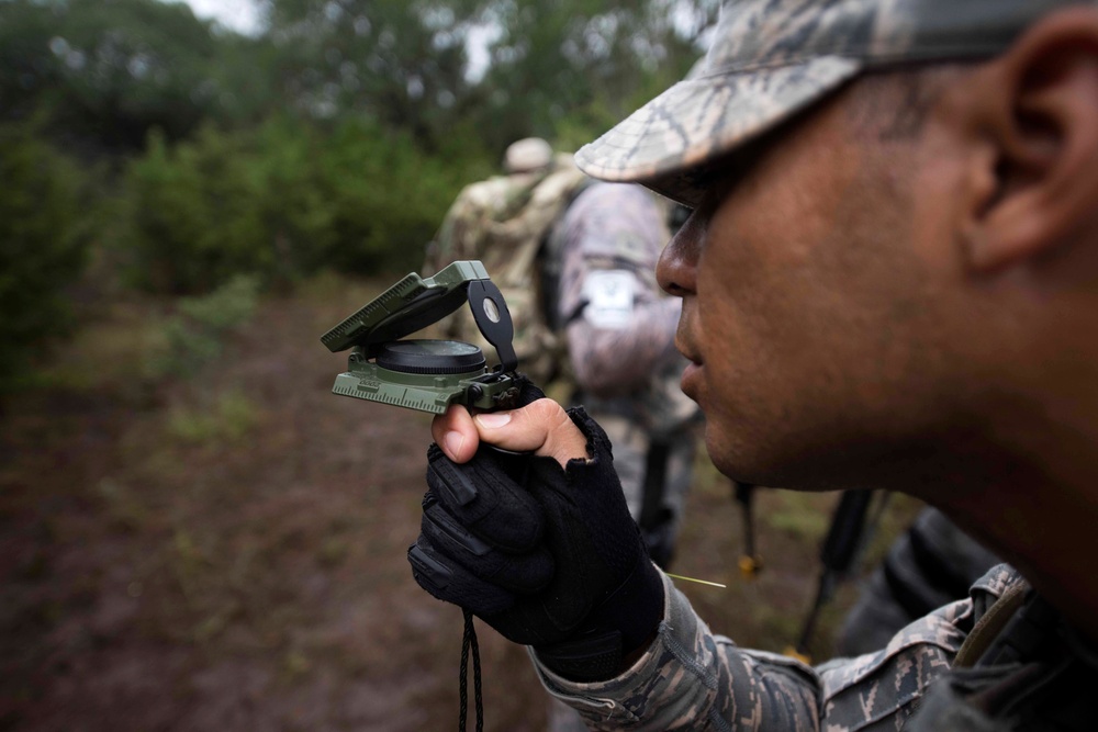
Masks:
[[[538,399],[519,409],[473,417],[480,439],[504,450],[552,458],[561,468],[569,460],[586,460],[587,438],[552,399]]]

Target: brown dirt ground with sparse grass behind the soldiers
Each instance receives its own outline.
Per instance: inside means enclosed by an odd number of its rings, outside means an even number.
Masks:
[[[51,367],[71,379],[8,399],[0,729],[456,728],[461,613],[405,559],[429,419],[328,391],[345,361],[318,336],[367,293],[266,302],[217,363],[170,382],[107,346],[144,322],[115,308]],[[698,471],[674,570],[730,585],[683,585],[715,629],[781,650],[834,498],[763,495],[768,565],[747,583],[728,483],[704,458]],[[910,513],[893,510],[877,543]],[[485,729],[544,729],[525,651],[479,630]]]

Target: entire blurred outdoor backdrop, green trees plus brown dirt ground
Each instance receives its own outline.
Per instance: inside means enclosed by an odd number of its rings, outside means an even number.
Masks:
[[[574,150],[682,78],[718,4],[259,0],[244,35],[0,0],[0,730],[453,727],[460,611],[404,556],[428,418],[332,396],[320,335],[511,142]],[[696,474],[674,570],[728,588],[682,589],[781,651],[836,497],[762,492],[746,582]],[[485,729],[542,729],[524,651],[481,645]]]

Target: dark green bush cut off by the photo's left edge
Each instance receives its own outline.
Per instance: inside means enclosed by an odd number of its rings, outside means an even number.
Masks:
[[[27,127],[0,127],[0,391],[74,324],[66,288],[87,259],[81,177]]]

